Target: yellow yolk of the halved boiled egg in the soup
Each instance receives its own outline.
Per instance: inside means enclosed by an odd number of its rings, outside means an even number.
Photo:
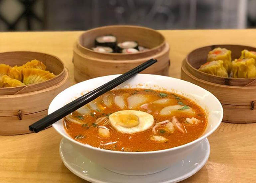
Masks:
[[[134,114],[119,114],[117,116],[118,124],[125,128],[131,128],[139,125],[139,118]]]

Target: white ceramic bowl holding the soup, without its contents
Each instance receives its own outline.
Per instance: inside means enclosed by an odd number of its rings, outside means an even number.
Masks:
[[[76,97],[81,96],[81,92],[91,91],[117,76],[119,75],[94,78],[67,88],[53,99],[48,113],[54,112]],[[146,175],[172,166],[177,160],[181,160],[188,153],[192,153],[193,149],[199,146],[202,140],[213,133],[220,125],[223,117],[222,106],[213,94],[197,85],[180,79],[138,74],[117,88],[151,88],[175,92],[197,102],[208,114],[208,125],[200,138],[182,146],[149,152],[120,152],[95,148],[72,139],[65,132],[62,120],[53,124],[54,129],[64,138],[68,139],[73,148],[79,153],[102,167],[120,174]]]

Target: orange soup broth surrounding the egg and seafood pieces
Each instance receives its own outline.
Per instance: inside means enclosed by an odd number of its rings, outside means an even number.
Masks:
[[[163,150],[163,149],[168,149],[168,148],[189,143],[199,138],[207,126],[207,118],[206,118],[205,112],[200,106],[198,106],[195,102],[191,101],[190,99],[184,98],[174,93],[170,93],[166,91],[163,92],[158,90],[118,89],[118,90],[110,91],[110,93],[114,95],[117,95],[123,92],[129,93],[128,96],[134,93],[151,95],[153,100],[161,99],[161,96],[159,94],[166,93],[167,96],[165,98],[172,99],[172,101],[174,102],[173,105],[176,105],[178,102],[182,102],[183,104],[192,108],[196,113],[196,116],[194,117],[201,120],[201,123],[197,125],[188,124],[185,121],[185,119],[187,117],[192,117],[192,116],[189,116],[188,114],[180,111],[176,111],[175,113],[169,116],[161,116],[159,114],[151,113],[151,115],[153,115],[154,117],[154,124],[152,127],[147,129],[146,131],[139,132],[136,134],[122,134],[120,132],[117,132],[115,129],[113,129],[111,125],[108,123],[106,127],[110,130],[110,138],[102,138],[98,135],[99,127],[96,126],[94,123],[95,123],[95,120],[99,117],[108,116],[111,113],[121,110],[117,106],[112,105],[111,108],[106,107],[102,111],[93,110],[90,114],[82,116],[82,120],[84,121],[84,124],[87,124],[87,125],[72,123],[64,119],[63,124],[67,133],[74,139],[78,135],[82,135],[84,138],[75,139],[75,140],[84,144],[91,145],[93,147],[98,147],[98,148],[108,149],[108,150],[115,150],[115,151],[131,151],[131,152],[143,151],[144,152],[144,151]],[[158,106],[155,105],[155,107],[157,110]],[[143,110],[141,108],[137,108],[134,110],[140,110],[140,111],[146,112],[146,110]],[[159,109],[159,111],[160,110],[161,109]],[[73,112],[72,115],[79,116],[79,117],[81,116],[81,114],[77,112]],[[151,142],[149,139],[152,135],[154,135],[152,132],[152,128],[154,127],[155,123],[161,122],[164,120],[172,121],[172,116],[177,117],[180,123],[184,126],[186,133],[182,134],[178,130],[175,130],[173,133],[169,133],[169,132],[160,133],[158,130],[157,131],[158,133],[156,135],[161,135],[167,138],[168,141],[165,143]]]

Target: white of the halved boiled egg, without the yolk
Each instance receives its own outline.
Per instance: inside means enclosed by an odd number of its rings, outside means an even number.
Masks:
[[[139,118],[139,124],[134,127],[126,128],[120,125],[118,121],[118,115],[120,114],[133,114]],[[136,110],[122,110],[117,111],[109,116],[110,125],[120,133],[133,134],[138,132],[143,132],[149,129],[154,123],[154,117],[146,112],[136,111]]]

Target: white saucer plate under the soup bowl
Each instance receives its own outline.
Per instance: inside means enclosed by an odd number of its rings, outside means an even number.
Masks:
[[[75,148],[64,138],[60,143],[60,156],[64,165],[78,177],[93,183],[179,182],[198,172],[207,162],[209,155],[210,144],[206,138],[191,154],[175,163],[172,167],[150,175],[129,176],[111,172],[93,163],[76,152]]]

